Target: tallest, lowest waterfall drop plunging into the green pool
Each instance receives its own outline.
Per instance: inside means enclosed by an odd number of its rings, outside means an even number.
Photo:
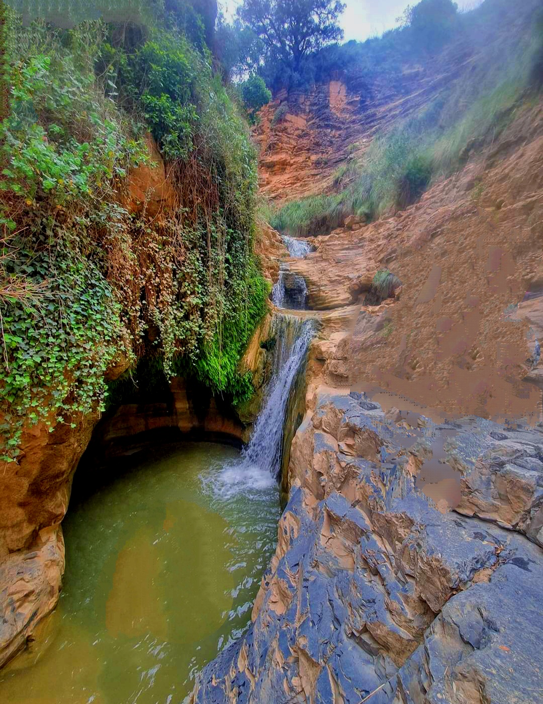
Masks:
[[[244,463],[256,465],[277,479],[289,396],[315,334],[315,323],[294,315],[275,315],[272,330],[276,340],[273,375],[251,440],[244,448],[242,457]]]

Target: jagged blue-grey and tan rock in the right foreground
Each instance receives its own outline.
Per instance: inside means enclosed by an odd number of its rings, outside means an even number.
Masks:
[[[432,448],[461,485],[457,510],[441,473],[423,471]],[[292,444],[289,503],[251,627],[201,673],[191,701],[542,700],[537,491],[516,494],[511,522],[503,509],[466,508],[480,468],[480,502],[496,502],[503,467],[516,459],[529,465],[517,474],[536,472],[541,451],[537,428],[436,425],[321,391]]]

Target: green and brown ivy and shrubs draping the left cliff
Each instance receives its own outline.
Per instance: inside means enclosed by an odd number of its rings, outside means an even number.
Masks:
[[[205,15],[151,5],[61,29],[4,12],[3,455],[25,425],[104,406],[106,378],[145,355],[246,400],[237,365],[267,293],[256,153]]]

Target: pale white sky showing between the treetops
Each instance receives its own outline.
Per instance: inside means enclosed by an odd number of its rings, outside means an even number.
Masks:
[[[228,13],[235,11],[239,0],[220,0]],[[416,4],[417,0],[344,0],[347,4],[341,25],[345,32],[345,41],[349,39],[368,39],[375,34],[382,34],[385,30],[392,29],[397,23],[396,19],[404,13],[409,4]],[[461,9],[472,8],[480,0],[457,0]]]

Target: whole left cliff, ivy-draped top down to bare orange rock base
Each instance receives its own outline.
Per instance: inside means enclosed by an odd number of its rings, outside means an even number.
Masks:
[[[2,665],[58,601],[61,522],[101,413],[150,390],[162,415],[121,413],[113,434],[239,434],[213,396],[250,406],[240,361],[269,284],[256,150],[209,48],[216,4],[0,9]]]

